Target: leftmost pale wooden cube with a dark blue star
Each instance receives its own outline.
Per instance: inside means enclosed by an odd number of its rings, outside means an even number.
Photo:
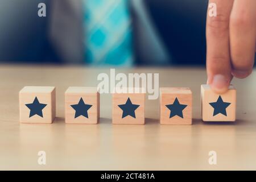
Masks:
[[[52,123],[56,115],[54,86],[25,86],[19,92],[20,123]]]

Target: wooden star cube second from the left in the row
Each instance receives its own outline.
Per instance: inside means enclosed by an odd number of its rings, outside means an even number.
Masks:
[[[69,87],[65,92],[65,122],[97,124],[100,119],[100,93],[92,87]]]

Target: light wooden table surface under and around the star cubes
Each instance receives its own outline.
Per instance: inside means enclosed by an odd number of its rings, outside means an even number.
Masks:
[[[97,86],[109,68],[53,65],[0,65],[0,169],[171,170],[256,169],[256,72],[233,80],[237,121],[203,123],[200,85],[204,68],[117,69],[123,73],[159,73],[160,87],[189,87],[193,125],[161,126],[158,100],[146,100],[146,125],[112,125],[111,94],[101,94],[98,125],[66,125],[64,92],[68,86]],[[52,124],[19,123],[19,90],[26,85],[56,86],[57,118]],[[46,151],[46,165],[38,164]],[[209,165],[209,151],[217,165]]]

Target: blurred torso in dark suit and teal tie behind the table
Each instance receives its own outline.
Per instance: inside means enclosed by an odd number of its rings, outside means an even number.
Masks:
[[[39,17],[39,3],[46,17]],[[0,0],[0,63],[204,65],[207,0]]]

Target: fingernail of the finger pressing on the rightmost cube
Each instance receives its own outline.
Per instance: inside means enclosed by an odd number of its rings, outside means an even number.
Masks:
[[[223,75],[215,75],[212,81],[212,88],[217,92],[224,92],[229,85],[229,80]]]

